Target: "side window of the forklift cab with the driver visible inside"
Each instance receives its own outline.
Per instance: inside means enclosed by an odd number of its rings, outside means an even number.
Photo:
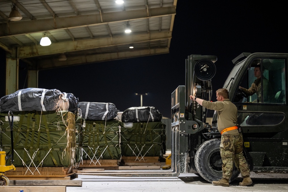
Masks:
[[[239,99],[239,95],[243,96],[238,102],[286,103],[285,60],[255,59],[245,76],[247,84],[241,83],[241,86],[246,89],[238,90],[236,98],[238,96]]]

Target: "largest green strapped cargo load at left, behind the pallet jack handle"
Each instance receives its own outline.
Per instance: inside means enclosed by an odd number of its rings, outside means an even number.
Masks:
[[[68,111],[13,112],[14,166],[69,167],[75,163],[75,115]],[[11,116],[10,116],[11,117]],[[2,151],[11,154],[7,113],[0,113]],[[6,161],[10,165],[11,161]]]

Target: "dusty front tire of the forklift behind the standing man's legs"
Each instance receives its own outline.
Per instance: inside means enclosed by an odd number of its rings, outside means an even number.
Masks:
[[[222,178],[222,159],[220,155],[221,139],[211,139],[203,142],[195,154],[195,167],[198,174],[205,180],[212,182]],[[233,167],[230,182],[239,175],[236,166]]]

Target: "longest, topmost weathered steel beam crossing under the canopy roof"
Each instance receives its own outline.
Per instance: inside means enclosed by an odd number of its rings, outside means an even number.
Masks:
[[[127,10],[121,12],[107,12],[92,15],[79,15],[65,18],[51,18],[42,20],[30,20],[20,22],[9,22],[0,24],[0,38],[12,35],[24,35],[29,33],[39,33],[45,31],[55,31],[63,28],[74,28],[80,26],[93,26],[107,24],[110,22],[129,21],[143,18],[175,15],[176,7],[158,7],[147,9]],[[103,22],[101,22],[101,19]]]

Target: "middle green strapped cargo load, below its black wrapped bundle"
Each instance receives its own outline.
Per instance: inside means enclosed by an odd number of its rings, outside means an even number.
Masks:
[[[120,121],[85,120],[82,128],[83,159],[120,159]]]

